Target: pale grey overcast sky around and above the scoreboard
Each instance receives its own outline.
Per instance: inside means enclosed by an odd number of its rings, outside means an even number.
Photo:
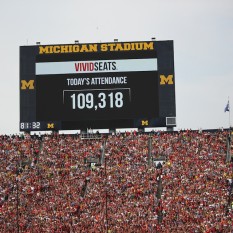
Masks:
[[[233,125],[232,0],[0,0],[0,134],[19,133],[19,47],[174,41],[175,129]],[[229,119],[230,118],[230,119]],[[230,120],[230,121],[229,121]]]

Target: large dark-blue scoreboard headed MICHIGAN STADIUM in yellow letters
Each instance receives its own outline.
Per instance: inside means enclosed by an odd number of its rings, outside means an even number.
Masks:
[[[176,126],[173,41],[20,46],[20,131]]]

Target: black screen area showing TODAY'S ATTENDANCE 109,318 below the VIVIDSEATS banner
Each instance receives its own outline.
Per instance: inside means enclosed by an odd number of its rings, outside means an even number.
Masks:
[[[158,88],[154,72],[118,75],[38,77],[37,120],[158,117]],[[114,80],[122,83],[112,84]]]

